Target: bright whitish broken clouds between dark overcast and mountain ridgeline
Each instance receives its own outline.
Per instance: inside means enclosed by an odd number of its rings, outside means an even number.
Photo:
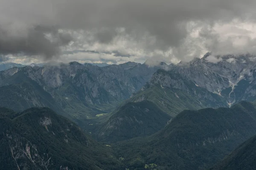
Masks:
[[[68,32],[74,37],[74,41],[69,45],[62,47],[62,51],[81,51],[76,54],[60,54],[53,60],[62,62],[111,62],[123,63],[128,61],[143,63],[147,59],[163,61],[167,63],[178,63],[180,60],[190,61],[194,57],[203,57],[203,55],[212,51],[212,55],[225,54],[256,54],[256,29],[255,24],[232,21],[225,24],[215,24],[212,28],[206,30],[207,34],[202,35],[204,25],[196,25],[188,23],[190,34],[182,40],[182,45],[159,50],[154,48],[156,39],[154,36],[144,34],[143,38],[136,39],[125,32],[125,28],[119,28],[119,33],[110,43],[101,43],[93,41],[93,32],[85,30],[61,30]],[[151,48],[148,48],[151,46]],[[87,53],[82,51],[97,51],[99,53]],[[105,54],[104,52],[109,54]],[[129,57],[121,57],[113,53],[118,51],[119,54],[129,55]],[[216,57],[207,57],[209,62],[219,62],[221,59]],[[44,62],[40,57],[26,58],[12,56],[7,62]],[[231,61],[230,61],[231,62]]]

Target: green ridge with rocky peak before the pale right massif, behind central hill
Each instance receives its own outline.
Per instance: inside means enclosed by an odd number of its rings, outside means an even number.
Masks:
[[[176,116],[185,109],[228,106],[223,97],[198,87],[180,74],[162,69],[157,70],[150,82],[128,101],[138,102],[144,99],[154,102],[171,116]]]

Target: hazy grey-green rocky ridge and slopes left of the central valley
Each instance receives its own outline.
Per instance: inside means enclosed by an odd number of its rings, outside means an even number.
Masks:
[[[12,91],[8,102],[1,106],[10,107],[10,100],[16,101],[19,98],[28,104],[25,104],[26,107],[20,105],[13,108],[17,111],[33,106],[57,107],[78,119],[84,119],[107,112],[122,100],[128,99],[145,85],[158,68],[161,65],[150,67],[135,62],[102,68],[78,62],[11,68],[0,72],[0,93],[5,94],[4,90],[14,86],[18,90]]]

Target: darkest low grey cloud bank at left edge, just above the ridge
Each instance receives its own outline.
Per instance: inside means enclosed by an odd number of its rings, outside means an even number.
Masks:
[[[47,38],[47,34],[50,37]],[[71,40],[69,34],[58,33],[56,28],[36,26],[29,28],[26,35],[13,35],[0,27],[0,54],[41,55],[49,59]]]

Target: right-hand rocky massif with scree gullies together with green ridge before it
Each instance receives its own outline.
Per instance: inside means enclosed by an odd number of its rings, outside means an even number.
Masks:
[[[129,102],[154,102],[171,116],[184,109],[231,107],[256,99],[256,57],[250,55],[203,58],[157,70]]]

